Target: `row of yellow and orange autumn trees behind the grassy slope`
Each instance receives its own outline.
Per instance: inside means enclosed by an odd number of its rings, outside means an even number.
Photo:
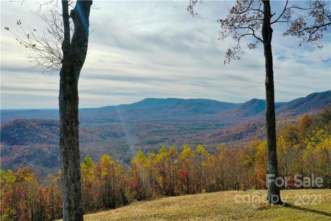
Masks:
[[[219,145],[208,153],[202,145],[181,150],[162,146],[157,153],[138,151],[126,168],[110,155],[81,163],[85,213],[112,209],[135,200],[203,192],[265,189],[267,142],[244,148]],[[331,188],[331,106],[319,115],[304,115],[278,131],[279,176],[323,178]],[[46,180],[29,168],[1,171],[1,220],[54,220],[62,217],[61,173]],[[285,187],[284,187],[285,188]]]

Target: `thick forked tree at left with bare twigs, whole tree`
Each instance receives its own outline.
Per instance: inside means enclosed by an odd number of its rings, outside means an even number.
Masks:
[[[89,18],[92,1],[62,0],[50,4],[50,14],[39,14],[46,21],[42,32],[24,29],[12,32],[19,44],[28,49],[28,60],[34,67],[60,71],[59,114],[62,169],[63,220],[83,220],[81,173],[79,164],[79,97],[78,81],[88,51]],[[70,6],[74,8],[70,11]]]

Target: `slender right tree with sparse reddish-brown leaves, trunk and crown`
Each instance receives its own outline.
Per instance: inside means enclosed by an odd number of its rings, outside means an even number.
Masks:
[[[190,0],[188,12],[194,12],[198,0]],[[276,23],[288,25],[283,36],[292,35],[300,39],[300,44],[308,42],[321,45],[318,41],[323,38],[323,32],[330,27],[330,1],[307,1],[298,4],[284,1],[281,8],[272,6],[270,1],[237,0],[225,19],[219,19],[221,25],[221,39],[232,37],[235,44],[225,54],[224,64],[232,59],[239,59],[242,53],[242,39],[251,37],[248,49],[254,49],[257,44],[263,44],[265,57],[265,127],[268,141],[268,169],[267,174],[278,176],[276,149],[276,122],[274,112],[274,71],[272,61],[272,26]],[[280,204],[279,188],[272,179],[268,179],[268,202]]]

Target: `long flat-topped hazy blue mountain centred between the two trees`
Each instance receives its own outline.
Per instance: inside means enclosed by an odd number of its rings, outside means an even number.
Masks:
[[[81,122],[112,122],[126,119],[174,119],[201,117],[229,111],[239,104],[217,102],[212,99],[157,99],[147,98],[134,104],[106,106],[102,108],[83,108],[80,110]]]

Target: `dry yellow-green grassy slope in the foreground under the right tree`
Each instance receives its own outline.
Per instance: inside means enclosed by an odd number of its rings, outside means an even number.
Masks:
[[[281,191],[288,206],[252,202],[264,200],[265,194],[223,191],[159,198],[88,214],[84,220],[331,220],[330,189]]]

